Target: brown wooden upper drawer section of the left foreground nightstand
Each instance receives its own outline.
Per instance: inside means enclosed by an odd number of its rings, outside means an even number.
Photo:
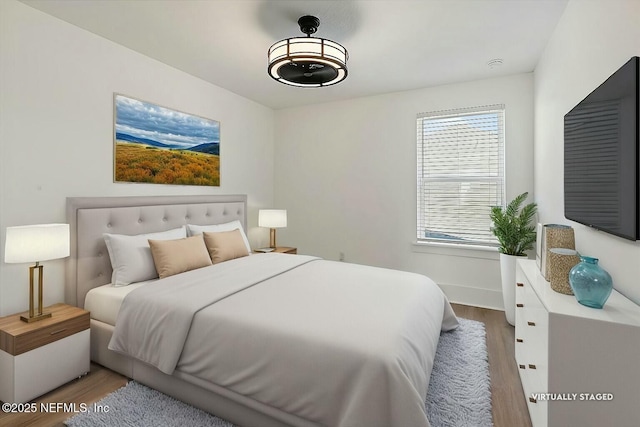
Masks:
[[[66,304],[44,309],[49,319],[25,323],[19,315],[0,319],[0,350],[17,356],[89,329],[89,312]]]

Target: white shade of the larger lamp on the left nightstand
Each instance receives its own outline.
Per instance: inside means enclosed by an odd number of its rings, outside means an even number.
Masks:
[[[69,256],[69,224],[7,227],[4,262],[40,262]]]

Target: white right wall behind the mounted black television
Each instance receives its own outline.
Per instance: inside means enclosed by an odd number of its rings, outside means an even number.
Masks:
[[[563,118],[632,56],[640,55],[640,2],[571,0],[535,70],[535,194],[543,222],[575,228],[576,248],[600,259],[616,289],[640,303],[640,241],[564,217]]]

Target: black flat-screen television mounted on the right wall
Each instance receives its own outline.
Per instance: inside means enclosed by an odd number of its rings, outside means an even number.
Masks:
[[[564,215],[640,240],[639,59],[564,116]]]

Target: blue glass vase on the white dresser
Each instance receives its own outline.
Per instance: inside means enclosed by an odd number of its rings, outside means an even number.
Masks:
[[[598,265],[598,258],[581,256],[569,272],[569,285],[578,302],[602,308],[613,290],[611,276]]]

